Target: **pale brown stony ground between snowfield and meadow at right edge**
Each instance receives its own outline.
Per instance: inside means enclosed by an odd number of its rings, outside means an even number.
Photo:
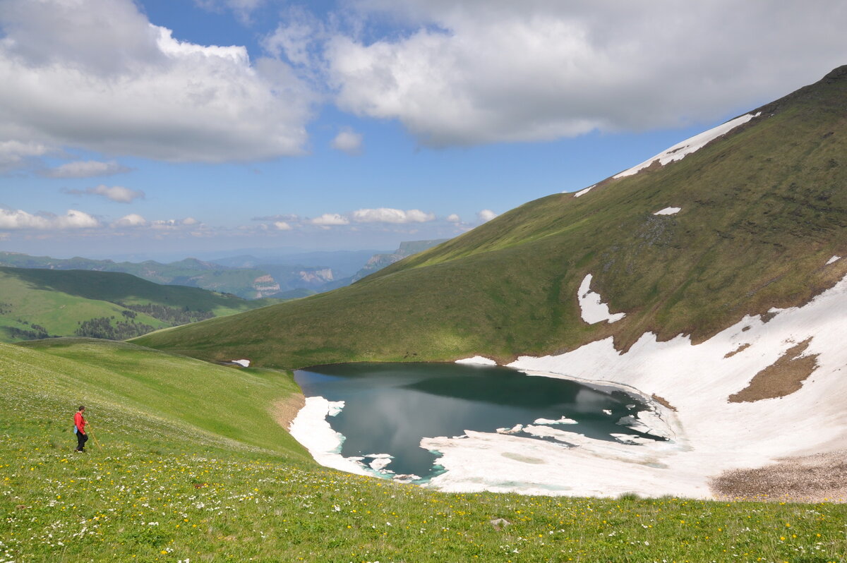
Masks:
[[[847,450],[785,457],[771,466],[736,469],[711,479],[722,500],[847,501]]]

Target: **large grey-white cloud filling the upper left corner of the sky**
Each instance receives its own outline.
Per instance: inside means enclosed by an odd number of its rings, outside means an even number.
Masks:
[[[291,66],[178,41],[132,0],[3,0],[0,36],[0,143],[207,163],[303,152],[314,95]]]

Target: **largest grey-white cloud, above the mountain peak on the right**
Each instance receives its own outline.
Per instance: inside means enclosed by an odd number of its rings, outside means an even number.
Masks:
[[[847,60],[847,4],[361,0],[406,34],[326,47],[336,103],[432,145],[645,130],[768,102]]]

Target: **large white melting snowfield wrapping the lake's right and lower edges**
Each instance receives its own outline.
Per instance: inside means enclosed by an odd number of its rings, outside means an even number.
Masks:
[[[438,463],[446,470],[429,486],[453,492],[710,498],[710,478],[723,471],[843,449],[844,310],[847,276],[805,306],[777,310],[767,324],[758,316],[744,317],[698,345],[682,335],[659,342],[646,333],[623,354],[609,338],[559,356],[520,357],[510,366],[531,375],[616,384],[639,393],[651,409],[622,422],[667,440],[620,433],[610,442],[550,426],[523,431],[555,441],[473,431],[461,439],[428,438],[421,446],[439,451]],[[806,353],[818,355],[818,367],[800,390],[780,399],[728,402],[756,373],[809,338]],[[745,344],[749,353],[725,357]],[[650,395],[662,396],[677,411]]]

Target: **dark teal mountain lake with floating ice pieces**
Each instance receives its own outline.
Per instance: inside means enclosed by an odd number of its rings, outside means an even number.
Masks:
[[[434,477],[440,471],[438,456],[421,448],[420,440],[460,436],[466,429],[495,432],[542,423],[594,439],[613,440],[614,433],[656,439],[617,424],[646,408],[634,395],[567,379],[532,377],[508,367],[336,364],[297,370],[295,379],[307,397],[344,401],[343,409],[327,418],[345,436],[341,455],[363,457],[364,465],[386,477],[392,472],[417,476],[418,482]],[[515,435],[545,439],[520,430]],[[377,454],[392,457],[388,462],[385,456],[375,458]]]

